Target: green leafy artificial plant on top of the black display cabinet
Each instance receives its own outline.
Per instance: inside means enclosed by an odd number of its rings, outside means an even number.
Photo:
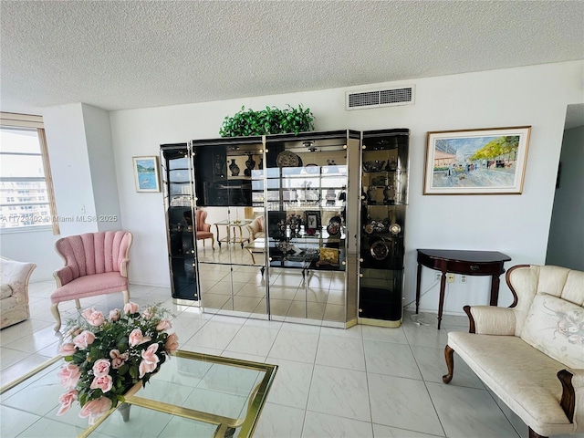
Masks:
[[[310,109],[293,108],[288,105],[285,110],[266,107],[266,110],[245,110],[245,106],[233,117],[225,117],[219,130],[222,137],[239,137],[247,135],[283,134],[314,130],[314,115]]]

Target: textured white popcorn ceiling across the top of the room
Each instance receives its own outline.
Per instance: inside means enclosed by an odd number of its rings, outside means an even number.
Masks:
[[[104,110],[584,58],[582,1],[0,1],[0,108]]]

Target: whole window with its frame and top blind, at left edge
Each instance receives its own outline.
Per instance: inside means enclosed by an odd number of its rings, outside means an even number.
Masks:
[[[0,231],[58,234],[47,141],[40,116],[0,113]]]

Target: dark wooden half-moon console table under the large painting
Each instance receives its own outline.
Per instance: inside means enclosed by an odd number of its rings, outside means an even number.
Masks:
[[[418,249],[418,278],[416,286],[416,314],[420,306],[420,280],[422,266],[441,271],[440,301],[438,303],[438,328],[442,322],[444,288],[446,273],[464,276],[492,276],[491,306],[499,299],[499,276],[505,272],[503,264],[511,260],[506,254],[497,251],[458,251],[451,249]]]

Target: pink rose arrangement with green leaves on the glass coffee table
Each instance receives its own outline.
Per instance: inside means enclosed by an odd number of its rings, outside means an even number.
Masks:
[[[57,415],[68,412],[78,401],[79,417],[89,418],[93,424],[123,401],[123,394],[138,381],[146,385],[178,349],[169,315],[158,305],[140,311],[130,302],[123,311],[110,311],[109,318],[88,308],[69,321],[59,348],[65,364],[58,371],[61,385],[68,391],[59,397]]]

